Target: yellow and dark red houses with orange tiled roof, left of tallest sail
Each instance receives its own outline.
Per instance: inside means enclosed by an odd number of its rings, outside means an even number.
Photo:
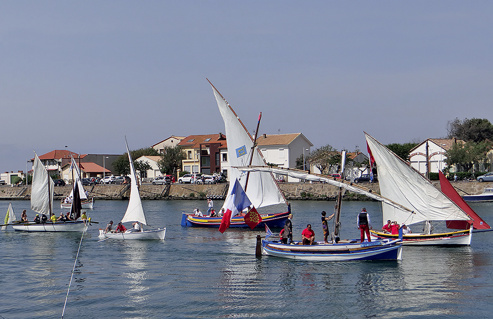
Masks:
[[[186,156],[182,161],[182,171],[203,174],[227,173],[228,147],[224,134],[189,135],[177,145]]]

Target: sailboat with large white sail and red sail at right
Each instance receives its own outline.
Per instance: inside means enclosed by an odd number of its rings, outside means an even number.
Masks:
[[[450,189],[446,191],[448,194],[444,194],[443,190],[446,187],[444,184],[445,181],[441,182],[442,191],[439,190],[420,172],[400,159],[376,139],[367,133],[365,133],[365,136],[368,148],[371,151],[370,156],[375,159],[377,165],[380,194],[403,206],[409,207],[413,211],[409,213],[383,203],[383,220],[396,221],[400,225],[412,225],[422,222],[425,224],[425,231],[423,233],[404,235],[403,244],[470,245],[473,228],[490,228],[475,213],[472,216],[472,209],[466,211],[464,210],[465,206],[461,207],[458,205],[451,198],[452,193]],[[448,228],[455,229],[460,224],[463,228],[460,231],[433,234],[431,232],[431,221],[445,222]],[[385,234],[383,231],[371,230],[370,233],[372,238],[375,239],[393,239],[396,237],[396,235]]]

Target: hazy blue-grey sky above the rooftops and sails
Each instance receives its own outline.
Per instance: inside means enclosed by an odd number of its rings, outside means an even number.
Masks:
[[[123,154],[253,132],[366,149],[493,121],[491,1],[0,2],[0,172],[55,149]],[[28,167],[31,169],[31,164]]]

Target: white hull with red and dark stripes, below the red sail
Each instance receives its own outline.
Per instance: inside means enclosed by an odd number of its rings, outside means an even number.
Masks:
[[[370,231],[371,239],[397,239],[398,235],[384,234]],[[439,233],[431,235],[408,234],[402,237],[403,245],[430,245],[430,246],[467,246],[471,244],[472,231],[470,229]]]

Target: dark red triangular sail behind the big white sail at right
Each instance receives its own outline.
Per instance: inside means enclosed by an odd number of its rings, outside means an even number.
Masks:
[[[471,220],[447,220],[447,228],[468,229],[472,223],[474,229],[490,229],[490,225],[469,207],[464,199],[457,193],[454,186],[450,184],[445,175],[443,175],[441,171],[438,172],[438,175],[440,176],[440,188],[442,189],[442,193],[447,195],[449,199],[455,202],[467,215],[469,215],[469,217],[471,217]]]

